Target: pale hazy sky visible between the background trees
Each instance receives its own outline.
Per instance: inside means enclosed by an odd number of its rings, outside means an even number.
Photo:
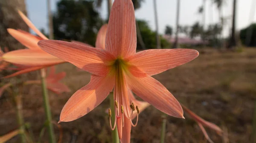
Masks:
[[[103,19],[106,19],[107,12],[107,0],[103,0],[102,8],[99,9],[100,15]],[[196,21],[201,22],[201,15],[198,14],[198,8],[202,5],[203,0],[180,0],[180,25],[192,25]],[[215,5],[212,4],[212,0],[206,0],[206,25],[210,23],[217,23],[219,21],[218,10]],[[253,0],[237,0],[237,17],[236,28],[242,29],[249,25],[252,21],[255,22],[255,17],[249,19],[250,9]],[[56,11],[56,3],[58,0],[51,0],[51,10]],[[227,18],[227,24],[224,26],[223,35],[228,36],[230,34],[231,22],[232,22],[232,5],[233,0],[226,0],[222,13]],[[47,0],[26,0],[26,8],[29,19],[35,24],[38,29],[45,29],[47,27]],[[157,15],[160,34],[164,33],[165,26],[169,25],[175,28],[176,23],[176,6],[177,0],[157,0]],[[151,29],[155,30],[155,20],[153,11],[153,0],[145,0],[142,7],[135,11],[137,19],[146,20],[149,23]]]

